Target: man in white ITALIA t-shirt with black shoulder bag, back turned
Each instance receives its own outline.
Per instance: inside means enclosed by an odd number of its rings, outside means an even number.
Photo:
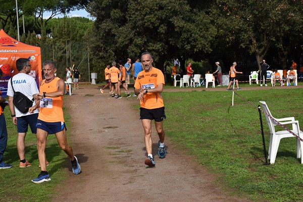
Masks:
[[[30,60],[26,58],[19,58],[16,61],[16,67],[19,71],[18,74],[13,76],[8,82],[8,92],[9,96],[9,106],[12,113],[13,123],[17,126],[18,137],[17,137],[17,150],[20,157],[20,168],[26,168],[31,166],[31,164],[25,159],[25,136],[28,129],[28,125],[33,134],[36,134],[37,131],[37,118],[38,110],[35,110],[32,114],[20,112],[13,104],[14,90],[15,92],[19,91],[26,95],[30,100],[33,99],[33,96],[39,93],[37,83],[35,79],[28,75],[30,73],[31,65]],[[13,87],[12,87],[13,84]],[[14,88],[14,90],[13,90]],[[33,106],[35,102],[33,102]]]

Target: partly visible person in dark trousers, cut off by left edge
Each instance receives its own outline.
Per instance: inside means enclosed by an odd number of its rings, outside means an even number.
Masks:
[[[0,69],[0,78],[2,77],[2,70]],[[12,168],[13,166],[10,164],[6,164],[3,162],[3,157],[5,153],[5,149],[8,143],[8,131],[6,127],[5,116],[3,114],[4,106],[6,102],[6,98],[1,96],[0,90],[0,169]]]

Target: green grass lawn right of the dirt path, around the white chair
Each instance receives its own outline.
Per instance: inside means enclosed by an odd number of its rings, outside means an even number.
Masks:
[[[267,102],[276,118],[294,116],[303,124],[302,89],[237,91],[249,102]],[[219,174],[218,184],[255,201],[302,201],[303,165],[296,159],[295,138],[280,142],[276,162],[265,162],[257,107],[232,92],[163,92],[170,140],[200,165]],[[266,147],[269,129],[263,116]],[[203,177],[203,176],[201,176]]]

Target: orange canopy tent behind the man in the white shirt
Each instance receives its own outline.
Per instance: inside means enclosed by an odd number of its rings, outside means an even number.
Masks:
[[[0,78],[0,90],[2,96],[7,96],[9,79],[18,74],[16,61],[19,58],[28,58],[30,60],[31,71],[29,75],[35,78],[37,86],[39,87],[39,80],[42,78],[40,47],[22,43],[10,37],[1,29],[0,69],[3,75]]]

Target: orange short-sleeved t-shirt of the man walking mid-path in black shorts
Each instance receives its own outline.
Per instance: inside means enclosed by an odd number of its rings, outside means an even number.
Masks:
[[[148,90],[156,88],[160,83],[165,84],[164,75],[161,70],[153,67],[150,72],[141,71],[138,73],[134,87],[137,89],[144,87]],[[145,93],[140,100],[140,106],[149,110],[164,107],[161,92]]]

